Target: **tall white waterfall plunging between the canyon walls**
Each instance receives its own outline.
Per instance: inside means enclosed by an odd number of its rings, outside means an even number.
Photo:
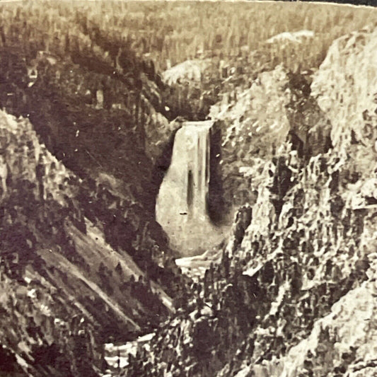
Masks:
[[[175,134],[170,167],[156,200],[156,219],[182,255],[200,253],[224,237],[207,214],[213,123],[185,122]]]

